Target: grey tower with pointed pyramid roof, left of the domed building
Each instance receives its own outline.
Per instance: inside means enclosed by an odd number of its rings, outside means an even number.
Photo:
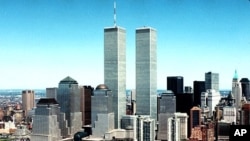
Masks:
[[[65,114],[67,126],[69,127],[69,135],[82,129],[82,113],[80,112],[80,89],[76,80],[67,76],[60,81],[57,89],[57,102],[61,108],[61,112]]]

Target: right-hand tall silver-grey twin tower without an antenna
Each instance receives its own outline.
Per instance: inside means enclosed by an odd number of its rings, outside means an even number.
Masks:
[[[157,117],[156,30],[136,29],[136,114]]]

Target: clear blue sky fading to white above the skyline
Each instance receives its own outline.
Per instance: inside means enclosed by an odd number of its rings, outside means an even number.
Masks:
[[[231,89],[234,70],[250,78],[249,0],[117,0],[127,31],[127,88],[135,88],[135,29],[157,29],[158,89],[167,76],[185,85],[220,74]],[[103,29],[113,26],[113,0],[0,0],[0,89],[104,82]]]

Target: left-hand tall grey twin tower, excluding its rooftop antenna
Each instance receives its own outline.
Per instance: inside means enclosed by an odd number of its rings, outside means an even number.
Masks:
[[[126,30],[121,27],[104,29],[104,84],[113,93],[115,128],[126,114]]]

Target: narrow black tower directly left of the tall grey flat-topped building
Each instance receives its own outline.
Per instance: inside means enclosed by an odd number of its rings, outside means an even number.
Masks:
[[[205,81],[194,81],[194,106],[201,105],[201,93],[206,92]]]

